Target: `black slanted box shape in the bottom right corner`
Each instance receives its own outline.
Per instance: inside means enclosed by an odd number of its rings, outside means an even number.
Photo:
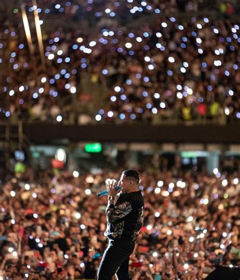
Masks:
[[[240,268],[229,266],[218,266],[205,280],[239,280]]]

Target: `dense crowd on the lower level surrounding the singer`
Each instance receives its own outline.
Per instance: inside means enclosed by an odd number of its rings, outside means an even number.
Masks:
[[[96,278],[107,245],[106,197],[122,169],[7,174],[0,189],[2,279]],[[239,266],[239,173],[140,171],[145,220],[130,259],[132,279],[203,279]],[[5,277],[5,278],[4,278]]]

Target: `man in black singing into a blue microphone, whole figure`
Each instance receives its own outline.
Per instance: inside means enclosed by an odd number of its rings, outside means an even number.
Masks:
[[[119,191],[115,183],[106,184],[108,204],[106,208],[107,228],[104,233],[109,243],[98,270],[98,280],[111,280],[116,273],[118,280],[131,279],[129,275],[129,256],[132,254],[135,241],[144,219],[144,201],[139,173],[136,170],[125,170],[118,182],[121,194],[114,203]]]

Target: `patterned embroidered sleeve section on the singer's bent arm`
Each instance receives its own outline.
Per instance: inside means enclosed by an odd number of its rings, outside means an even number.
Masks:
[[[132,211],[132,206],[129,202],[118,204],[114,208],[109,208],[107,211],[107,222],[114,223],[115,221],[126,217]]]

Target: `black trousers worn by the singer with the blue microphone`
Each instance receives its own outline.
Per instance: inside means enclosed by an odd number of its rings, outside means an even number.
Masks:
[[[128,272],[129,256],[134,246],[134,241],[109,240],[98,269],[98,280],[111,280],[115,273],[118,280],[131,279]]]

